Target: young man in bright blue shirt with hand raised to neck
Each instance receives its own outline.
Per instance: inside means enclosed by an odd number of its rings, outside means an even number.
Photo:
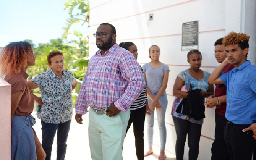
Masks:
[[[256,66],[247,60],[249,36],[231,32],[223,39],[227,58],[212,72],[211,84],[227,86],[224,139],[232,160],[251,160],[256,146]],[[221,74],[228,64],[235,66]]]

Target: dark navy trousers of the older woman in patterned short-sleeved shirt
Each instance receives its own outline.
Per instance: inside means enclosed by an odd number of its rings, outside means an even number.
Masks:
[[[60,123],[45,123],[41,121],[42,124],[42,147],[46,153],[46,159],[50,160],[52,155],[52,144],[54,140],[54,136],[57,132],[57,160],[64,160],[66,155],[66,141],[68,139],[68,132],[70,130],[71,120]]]

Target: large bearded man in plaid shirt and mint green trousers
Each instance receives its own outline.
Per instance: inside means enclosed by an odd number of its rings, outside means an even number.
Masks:
[[[116,43],[115,27],[102,23],[94,33],[99,50],[89,60],[76,102],[77,123],[89,112],[92,160],[123,160],[130,105],[145,87],[136,58]]]

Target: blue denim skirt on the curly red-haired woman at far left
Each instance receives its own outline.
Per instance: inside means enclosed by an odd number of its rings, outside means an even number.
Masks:
[[[11,160],[36,160],[36,144],[31,126],[36,123],[32,115],[13,116],[11,124]]]

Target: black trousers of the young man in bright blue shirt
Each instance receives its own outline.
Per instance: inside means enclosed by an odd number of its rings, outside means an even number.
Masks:
[[[224,128],[224,139],[231,160],[251,160],[256,141],[253,138],[253,131],[242,131],[248,126],[250,125],[234,124],[227,121]]]

